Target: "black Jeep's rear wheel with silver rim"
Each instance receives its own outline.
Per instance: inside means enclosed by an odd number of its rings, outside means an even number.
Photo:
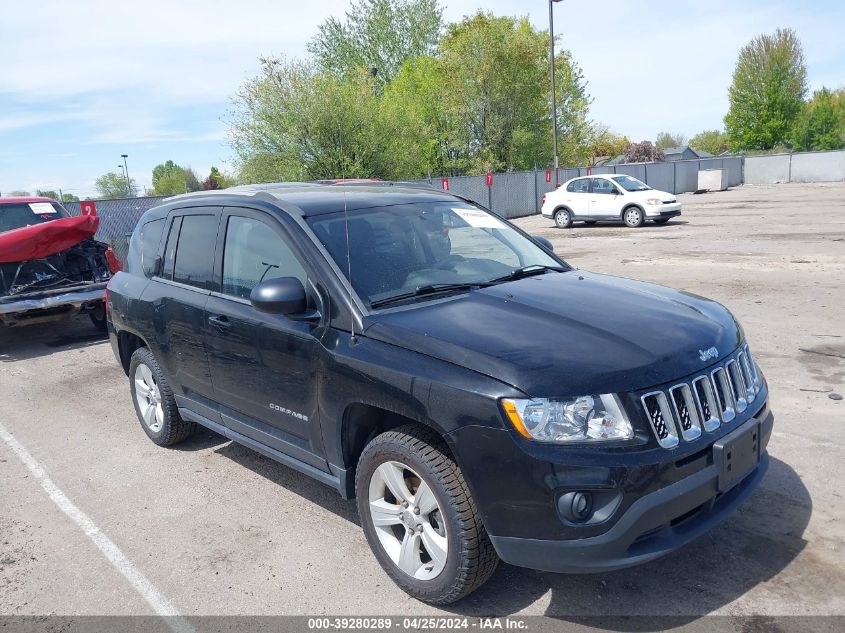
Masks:
[[[193,435],[195,422],[183,420],[173,390],[155,358],[139,347],[129,360],[129,390],[141,428],[159,446],[172,446]]]

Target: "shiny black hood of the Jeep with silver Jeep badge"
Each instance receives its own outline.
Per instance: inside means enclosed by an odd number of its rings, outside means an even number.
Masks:
[[[534,397],[645,389],[700,371],[742,340],[715,301],[579,270],[373,315],[365,334]],[[712,347],[717,357],[703,353]]]

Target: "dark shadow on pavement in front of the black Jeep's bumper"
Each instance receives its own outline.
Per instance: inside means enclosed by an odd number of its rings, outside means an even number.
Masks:
[[[504,616],[550,594],[545,615],[562,620],[561,626],[569,622],[617,631],[683,626],[730,604],[789,566],[806,545],[803,533],[811,514],[812,500],[798,474],[771,458],[761,487],[737,512],[675,553],[639,567],[587,575],[502,564],[486,585],[448,610],[467,616]],[[813,581],[813,572],[801,569],[806,563],[796,564],[789,579],[791,594],[800,596],[804,591],[817,592],[819,584],[825,586],[824,581]],[[829,571],[831,580],[838,575]]]

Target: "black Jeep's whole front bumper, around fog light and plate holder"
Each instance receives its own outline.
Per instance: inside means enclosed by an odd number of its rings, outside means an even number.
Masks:
[[[774,425],[767,397],[764,383],[753,407],[674,449],[645,438],[642,448],[633,450],[562,450],[481,427],[455,431],[453,447],[502,560],[545,571],[609,571],[681,547],[754,490],[767,468],[765,449]],[[760,461],[720,493],[721,460],[714,447],[752,419],[759,424]],[[571,491],[592,494],[595,520],[563,518],[558,500]]]

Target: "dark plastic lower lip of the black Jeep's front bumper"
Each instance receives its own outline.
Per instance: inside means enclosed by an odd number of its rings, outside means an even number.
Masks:
[[[717,494],[714,466],[634,502],[608,532],[552,541],[491,536],[499,557],[541,571],[590,573],[646,563],[686,545],[733,512],[763,479],[768,453],[744,480]]]

